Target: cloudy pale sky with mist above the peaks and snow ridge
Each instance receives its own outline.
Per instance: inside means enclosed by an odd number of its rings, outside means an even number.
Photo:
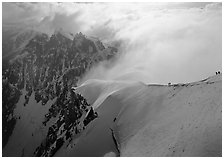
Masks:
[[[6,24],[83,32],[121,43],[121,58],[85,77],[146,83],[201,80],[222,67],[221,3],[3,3]]]

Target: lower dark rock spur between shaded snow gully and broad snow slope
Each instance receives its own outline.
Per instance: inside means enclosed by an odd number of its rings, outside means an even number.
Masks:
[[[68,141],[69,144],[75,134],[85,129],[86,125],[83,124],[81,117],[84,117],[88,111],[84,121],[87,119],[90,122],[96,118],[90,113],[93,112],[92,107],[80,94],[70,91],[63,109],[60,109],[58,120],[49,127],[46,139],[37,147],[34,155],[38,157],[53,156],[63,143]],[[46,116],[50,115],[47,114]]]

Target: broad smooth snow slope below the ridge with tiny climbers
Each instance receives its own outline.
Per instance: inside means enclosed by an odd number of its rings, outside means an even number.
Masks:
[[[76,92],[99,116],[56,156],[221,156],[221,86],[221,75],[171,86],[87,81]]]

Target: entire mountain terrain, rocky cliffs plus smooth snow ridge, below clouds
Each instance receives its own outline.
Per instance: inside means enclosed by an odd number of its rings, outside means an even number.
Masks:
[[[3,156],[222,155],[221,74],[186,84],[77,86],[117,49],[82,33],[28,32],[13,36],[21,40],[3,60]]]

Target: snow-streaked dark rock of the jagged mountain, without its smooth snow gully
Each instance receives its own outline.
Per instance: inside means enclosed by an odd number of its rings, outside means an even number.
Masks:
[[[49,128],[45,141],[35,151],[36,156],[53,156],[64,140],[71,138],[72,131],[79,131],[76,127],[83,114],[90,110],[85,126],[96,117],[86,100],[71,87],[76,86],[92,65],[114,57],[116,52],[116,48],[105,48],[100,41],[91,41],[82,33],[70,40],[58,32],[50,38],[46,34],[36,35],[16,58],[3,61],[3,148],[13,132],[18,118],[13,112],[22,90],[25,90],[24,106],[32,93],[36,102],[43,106],[56,99],[45,115],[43,125],[59,115],[58,121]],[[64,133],[63,138],[56,135],[59,129]]]

